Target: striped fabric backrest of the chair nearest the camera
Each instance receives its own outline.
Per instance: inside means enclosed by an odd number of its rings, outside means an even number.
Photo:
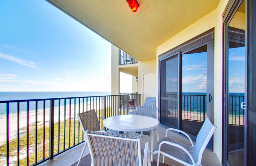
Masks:
[[[137,139],[132,135],[121,135],[89,131],[92,134]],[[137,141],[120,140],[90,135],[96,166],[139,165]],[[143,158],[143,155],[141,156]],[[143,162],[142,162],[143,163]]]

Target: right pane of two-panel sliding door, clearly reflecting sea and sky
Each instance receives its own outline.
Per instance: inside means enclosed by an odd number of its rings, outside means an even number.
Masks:
[[[207,117],[207,45],[181,54],[181,126],[196,138]]]

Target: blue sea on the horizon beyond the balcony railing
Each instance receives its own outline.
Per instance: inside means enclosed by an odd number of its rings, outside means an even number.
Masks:
[[[12,100],[30,100],[30,99],[52,99],[65,97],[87,97],[87,96],[105,96],[111,95],[111,92],[0,92],[0,101]],[[100,100],[100,98],[98,98]],[[74,100],[71,100],[74,104]],[[46,102],[45,105],[49,105]],[[56,104],[55,104],[56,105]],[[63,100],[60,106],[64,105]],[[43,108],[43,102],[38,102],[38,108]],[[27,103],[20,102],[20,112],[27,110]],[[35,102],[29,102],[29,110],[35,110]],[[17,103],[9,104],[9,114],[17,113]],[[6,115],[6,103],[0,103],[0,116]]]

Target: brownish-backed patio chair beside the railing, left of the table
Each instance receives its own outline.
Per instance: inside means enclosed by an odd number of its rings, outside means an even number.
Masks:
[[[85,131],[86,130],[92,130],[92,131],[99,131],[99,132],[106,132],[106,131],[101,131],[100,130],[100,122],[98,120],[98,117],[96,115],[96,112],[94,109],[92,110],[89,110],[89,111],[85,111],[85,112],[81,112],[79,114],[77,114],[77,117],[78,117],[78,120],[81,124],[81,127],[82,127],[82,130],[85,134]],[[117,131],[113,131],[113,130],[109,130],[109,132],[113,132],[113,133],[117,133]],[[85,147],[87,145],[87,141],[86,141],[86,138],[84,137],[84,141],[85,141],[85,144],[84,144],[84,148],[83,148],[83,151],[80,155],[80,158],[78,160],[78,163],[77,163],[77,166],[79,166],[80,164],[80,161],[83,157],[83,154],[84,154],[84,150],[85,150]]]

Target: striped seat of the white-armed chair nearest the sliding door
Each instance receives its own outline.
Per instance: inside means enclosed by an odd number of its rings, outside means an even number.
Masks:
[[[195,146],[194,147],[190,147],[190,146],[187,146],[185,144],[182,144],[176,140],[172,140],[168,137],[162,137],[160,138],[160,140],[157,142],[156,144],[156,147],[154,148],[153,150],[153,154],[156,154],[156,152],[158,151],[158,148],[159,148],[159,145],[162,141],[169,141],[169,142],[173,142],[175,144],[178,144],[178,145],[181,145],[182,147],[186,148],[188,150],[188,152],[192,155],[195,163],[197,162],[198,160],[198,156],[197,156],[197,153],[196,153],[196,148]],[[188,154],[180,149],[179,147],[174,147],[174,146],[171,146],[171,145],[168,145],[168,144],[163,144],[161,146],[161,149],[160,149],[162,152],[164,153],[167,153],[169,155],[172,155],[173,157],[177,158],[177,159],[180,159],[184,162],[187,162],[188,164],[193,164],[192,160],[190,159],[190,157],[188,156]],[[155,152],[155,153],[154,153]]]

